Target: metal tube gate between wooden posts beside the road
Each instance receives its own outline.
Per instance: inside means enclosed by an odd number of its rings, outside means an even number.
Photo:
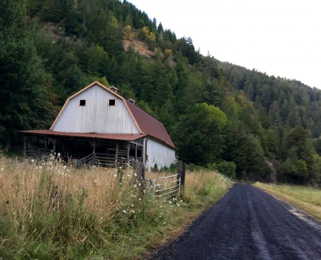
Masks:
[[[147,182],[150,180],[147,180]],[[180,193],[181,174],[154,178],[152,182],[154,197],[157,199],[168,199]]]

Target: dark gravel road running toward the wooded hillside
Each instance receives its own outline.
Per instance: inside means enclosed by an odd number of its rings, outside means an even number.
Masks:
[[[321,224],[250,184],[237,183],[151,259],[321,259]]]

